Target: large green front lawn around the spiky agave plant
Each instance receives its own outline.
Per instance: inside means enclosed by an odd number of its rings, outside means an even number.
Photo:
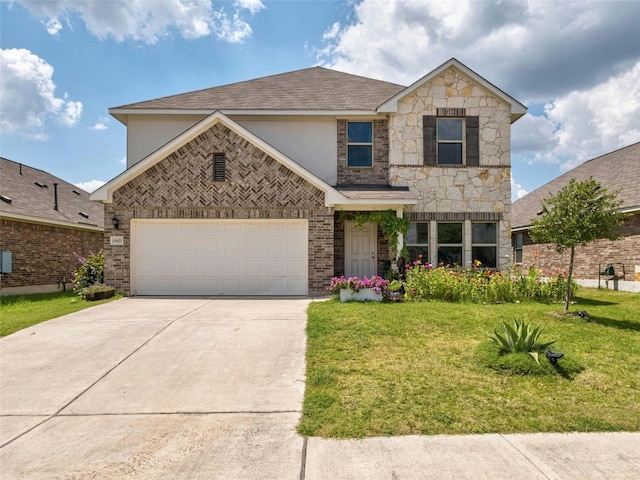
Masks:
[[[582,288],[538,303],[312,303],[299,433],[357,438],[640,430],[640,295]],[[499,321],[542,325],[558,368],[498,359]],[[528,363],[527,363],[528,362]],[[533,367],[532,367],[533,365]]]

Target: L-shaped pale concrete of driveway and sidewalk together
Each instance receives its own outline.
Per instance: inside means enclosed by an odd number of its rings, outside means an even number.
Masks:
[[[298,436],[309,302],[126,298],[0,339],[0,478],[640,478],[638,433]]]

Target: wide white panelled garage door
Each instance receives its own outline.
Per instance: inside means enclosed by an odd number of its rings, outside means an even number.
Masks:
[[[306,295],[307,220],[133,220],[135,295]]]

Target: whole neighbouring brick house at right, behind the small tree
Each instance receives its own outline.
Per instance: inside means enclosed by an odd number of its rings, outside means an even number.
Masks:
[[[640,292],[640,143],[591,159],[515,201],[511,216],[515,262],[525,267],[535,265],[544,272],[566,271],[569,254],[559,255],[552,245],[533,243],[529,229],[542,200],[556,194],[572,178],[593,178],[610,191],[619,190],[620,210],[630,214],[620,228],[620,239],[601,239],[576,248],[575,278],[587,286],[600,283]],[[609,265],[613,272],[604,274]]]

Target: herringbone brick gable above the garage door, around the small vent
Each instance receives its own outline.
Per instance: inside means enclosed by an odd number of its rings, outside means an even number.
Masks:
[[[227,158],[213,182],[213,154]],[[222,125],[216,125],[114,194],[119,206],[318,208],[324,193]]]

